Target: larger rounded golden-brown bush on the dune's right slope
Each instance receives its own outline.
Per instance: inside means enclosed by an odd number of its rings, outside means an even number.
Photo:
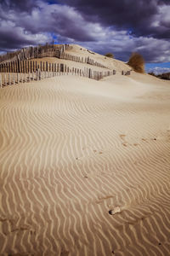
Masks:
[[[138,73],[144,73],[144,58],[139,53],[133,53],[127,62],[133,70]]]

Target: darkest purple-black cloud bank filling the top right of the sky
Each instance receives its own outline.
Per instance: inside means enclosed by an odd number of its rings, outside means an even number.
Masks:
[[[75,7],[87,19],[99,21],[105,26],[127,29],[135,36],[170,38],[170,20],[163,21],[161,7],[169,5],[166,0],[60,0]],[[168,9],[169,12],[169,9]],[[155,22],[159,19],[159,26]]]

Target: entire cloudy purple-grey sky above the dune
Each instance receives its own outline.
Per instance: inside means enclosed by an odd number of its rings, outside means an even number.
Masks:
[[[170,71],[170,0],[0,0],[0,53],[47,42],[81,44],[147,71]]]

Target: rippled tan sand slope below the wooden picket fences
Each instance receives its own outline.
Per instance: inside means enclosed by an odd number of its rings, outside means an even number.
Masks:
[[[3,88],[0,178],[0,255],[169,255],[170,83]]]

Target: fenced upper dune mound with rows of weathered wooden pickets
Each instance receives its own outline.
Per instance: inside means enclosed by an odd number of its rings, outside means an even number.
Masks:
[[[130,75],[131,70],[122,61],[105,61],[105,56],[79,45],[29,47],[0,56],[0,88],[61,74],[99,80],[116,72]]]

